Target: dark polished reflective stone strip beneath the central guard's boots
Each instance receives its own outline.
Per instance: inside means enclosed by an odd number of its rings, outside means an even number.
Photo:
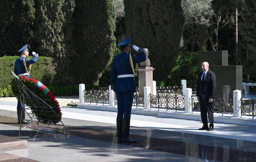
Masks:
[[[3,116],[0,116],[0,119],[1,121],[6,121]],[[18,128],[19,125],[13,124],[11,118],[8,120],[10,123],[5,122],[4,124],[17,126]],[[114,131],[99,130],[100,127],[93,126],[91,128],[84,128],[66,125],[66,127],[70,133],[70,136],[105,141],[119,145],[117,144],[117,136],[116,132]],[[32,125],[31,128],[36,129],[36,127],[33,127]],[[0,134],[16,137],[17,131],[18,129],[0,130]],[[140,136],[134,135],[134,132],[140,133]],[[124,144],[131,147],[140,147],[150,150],[174,153],[178,155],[185,155],[188,157],[202,158],[205,161],[255,161],[256,159],[256,142],[252,141],[210,137],[204,135],[139,127],[131,127],[130,133],[132,133],[130,134],[130,138],[138,140],[138,142],[134,144]],[[21,135],[22,139],[26,139],[28,141],[39,140],[51,141],[55,143],[65,143],[67,141],[70,142],[71,140],[69,136],[49,134],[33,130],[22,130]],[[95,142],[93,140],[91,140],[92,143]]]

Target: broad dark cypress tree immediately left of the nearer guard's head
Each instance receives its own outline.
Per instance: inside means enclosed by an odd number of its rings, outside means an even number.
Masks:
[[[98,85],[109,67],[116,46],[113,0],[76,0],[74,9],[74,84]],[[82,70],[82,73],[81,73]]]

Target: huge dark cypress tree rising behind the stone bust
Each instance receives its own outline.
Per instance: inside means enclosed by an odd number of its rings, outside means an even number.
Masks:
[[[126,37],[148,48],[155,81],[165,80],[180,53],[184,13],[181,0],[124,0]]]

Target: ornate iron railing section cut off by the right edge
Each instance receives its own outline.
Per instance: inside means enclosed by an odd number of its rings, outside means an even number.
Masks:
[[[255,100],[253,98],[250,100],[243,100],[241,98],[240,101],[241,101],[241,106],[240,106],[241,117],[242,115],[246,115],[246,116],[252,116],[252,118],[254,118],[256,113]]]

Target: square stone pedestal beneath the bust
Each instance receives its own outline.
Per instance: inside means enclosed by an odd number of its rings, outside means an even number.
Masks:
[[[153,94],[153,67],[139,67],[139,94],[144,94],[144,87],[150,87]]]

